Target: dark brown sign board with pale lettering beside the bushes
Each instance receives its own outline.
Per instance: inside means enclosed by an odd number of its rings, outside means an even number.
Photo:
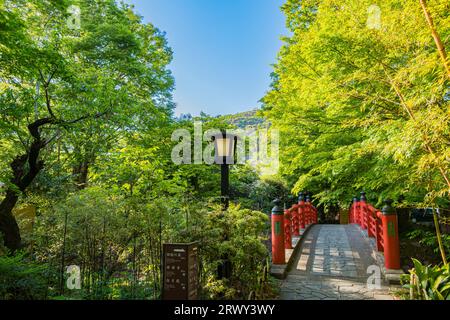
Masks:
[[[164,300],[197,300],[197,243],[165,243],[163,268]]]

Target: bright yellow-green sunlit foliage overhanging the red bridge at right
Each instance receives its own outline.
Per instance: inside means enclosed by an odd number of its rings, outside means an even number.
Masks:
[[[444,3],[429,5],[448,40],[448,15],[435,11]],[[433,39],[417,2],[379,3],[379,29],[366,26],[372,4],[283,6],[294,34],[264,98],[265,115],[282,133],[281,171],[296,180],[294,192],[307,189],[322,201],[346,203],[364,189],[421,202],[428,190],[445,203],[448,81]]]

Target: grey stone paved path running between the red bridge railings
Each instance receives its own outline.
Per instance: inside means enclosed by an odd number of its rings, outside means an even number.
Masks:
[[[294,267],[281,284],[283,300],[392,300],[389,286],[368,289],[377,265],[356,225],[316,225],[306,234]]]

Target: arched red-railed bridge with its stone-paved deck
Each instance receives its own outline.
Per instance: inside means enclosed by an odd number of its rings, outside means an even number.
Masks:
[[[362,192],[340,225],[318,224],[317,208],[302,193],[289,209],[274,203],[271,273],[285,279],[281,298],[392,299],[389,286],[403,272],[391,200],[378,210]]]

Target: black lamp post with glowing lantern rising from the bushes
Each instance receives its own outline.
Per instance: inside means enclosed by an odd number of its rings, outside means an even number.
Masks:
[[[213,136],[215,147],[215,163],[220,164],[221,171],[221,197],[223,204],[223,211],[228,210],[230,202],[230,164],[234,163],[234,154],[236,150],[237,136],[227,134],[222,131]],[[224,241],[228,240],[228,232],[225,232]],[[223,263],[219,265],[217,273],[219,279],[229,279],[231,277],[231,262],[228,255],[222,256]]]

